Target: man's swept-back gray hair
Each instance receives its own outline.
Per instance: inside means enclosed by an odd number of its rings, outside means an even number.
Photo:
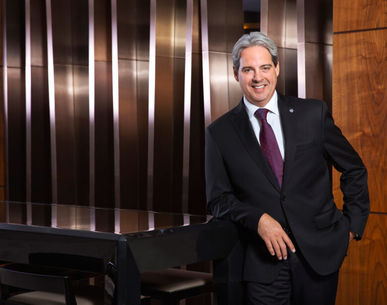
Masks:
[[[278,64],[278,51],[277,46],[274,41],[268,38],[265,34],[261,32],[250,32],[249,34],[243,35],[233,48],[233,65],[237,71],[239,71],[239,59],[241,53],[244,49],[254,46],[261,46],[267,49],[271,55],[271,60],[273,61],[274,67],[277,67]]]

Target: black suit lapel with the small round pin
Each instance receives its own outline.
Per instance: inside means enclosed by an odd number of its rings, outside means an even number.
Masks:
[[[285,138],[285,162],[282,177],[282,193],[284,193],[290,179],[294,154],[296,152],[297,122],[299,114],[294,101],[279,93],[278,109]]]

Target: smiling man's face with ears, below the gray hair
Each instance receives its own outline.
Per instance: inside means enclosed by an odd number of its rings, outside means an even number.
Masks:
[[[274,94],[279,64],[274,67],[269,51],[261,46],[244,49],[239,64],[239,71],[233,67],[234,77],[246,99],[258,107],[265,106]]]

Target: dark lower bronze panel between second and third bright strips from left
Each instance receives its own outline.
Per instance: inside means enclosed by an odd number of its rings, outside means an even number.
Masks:
[[[31,200],[51,203],[50,107],[47,67],[31,67]],[[33,215],[33,214],[32,214]]]

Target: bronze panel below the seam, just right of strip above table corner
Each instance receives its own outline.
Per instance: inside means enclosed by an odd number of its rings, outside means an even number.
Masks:
[[[121,208],[138,208],[137,65],[119,60]]]

